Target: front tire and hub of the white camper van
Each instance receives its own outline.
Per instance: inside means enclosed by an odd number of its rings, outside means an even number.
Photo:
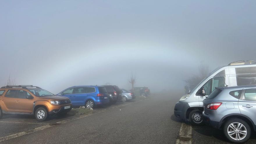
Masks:
[[[191,125],[194,126],[202,126],[204,125],[203,119],[202,119],[202,111],[200,110],[193,110],[189,113],[189,121]]]

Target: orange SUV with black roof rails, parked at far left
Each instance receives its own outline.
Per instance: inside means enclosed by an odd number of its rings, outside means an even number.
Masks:
[[[48,115],[65,115],[72,109],[70,99],[38,86],[19,85],[0,88],[0,118],[4,113],[35,115],[44,121]]]

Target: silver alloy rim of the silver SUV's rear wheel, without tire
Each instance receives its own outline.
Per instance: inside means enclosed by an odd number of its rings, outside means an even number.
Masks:
[[[233,122],[227,127],[227,133],[234,140],[242,140],[247,135],[247,129],[243,124]]]

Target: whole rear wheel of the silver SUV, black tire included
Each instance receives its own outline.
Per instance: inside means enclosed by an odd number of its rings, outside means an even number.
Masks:
[[[238,129],[238,127],[240,128]],[[246,134],[244,132],[241,132],[240,130],[246,131]],[[234,131],[234,134],[230,136],[229,132],[232,132],[232,131]],[[223,132],[226,138],[232,143],[245,143],[246,141],[248,141],[248,139],[251,136],[250,126],[248,125],[247,122],[245,122],[244,120],[241,120],[240,118],[233,118],[225,122],[223,127]],[[239,138],[239,137],[241,138],[241,140],[236,140],[236,138]]]

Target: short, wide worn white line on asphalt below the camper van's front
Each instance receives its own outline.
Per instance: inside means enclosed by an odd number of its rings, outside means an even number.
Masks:
[[[192,143],[192,127],[186,125],[185,123],[181,124],[179,130],[179,137],[177,138],[176,144],[191,144]]]

